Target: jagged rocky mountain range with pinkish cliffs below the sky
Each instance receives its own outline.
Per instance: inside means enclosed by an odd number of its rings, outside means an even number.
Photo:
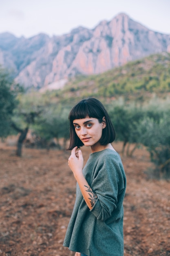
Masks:
[[[0,34],[0,64],[26,88],[45,88],[77,74],[98,74],[150,54],[170,52],[170,35],[157,33],[120,13],[94,29],[16,38]]]

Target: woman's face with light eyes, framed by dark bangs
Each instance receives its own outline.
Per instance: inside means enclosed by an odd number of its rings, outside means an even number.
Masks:
[[[99,123],[97,118],[86,117],[73,121],[75,132],[85,146],[91,146],[93,152],[100,146],[99,140],[102,137],[102,130],[106,127],[105,117]]]

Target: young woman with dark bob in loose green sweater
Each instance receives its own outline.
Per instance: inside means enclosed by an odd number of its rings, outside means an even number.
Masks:
[[[64,246],[75,256],[123,256],[123,200],[126,176],[111,142],[115,130],[102,103],[88,98],[69,114],[71,156],[77,181],[76,200]],[[80,146],[90,146],[84,166]],[[84,168],[83,168],[84,166]]]

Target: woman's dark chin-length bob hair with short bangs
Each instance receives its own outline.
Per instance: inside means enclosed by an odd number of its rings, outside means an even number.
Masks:
[[[70,146],[68,147],[68,150],[72,150],[75,146],[84,146],[83,142],[75,132],[73,121],[75,119],[83,119],[86,117],[97,118],[99,123],[102,123],[102,119],[105,117],[106,128],[103,129],[102,137],[99,140],[101,145],[106,145],[115,140],[115,130],[103,104],[95,98],[83,99],[72,108],[68,116],[70,121]]]

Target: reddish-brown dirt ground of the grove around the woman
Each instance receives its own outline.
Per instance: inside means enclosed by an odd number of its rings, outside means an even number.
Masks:
[[[121,143],[113,144],[121,152]],[[89,149],[82,148],[84,159]],[[68,256],[62,246],[75,201],[69,152],[0,144],[0,255]],[[122,156],[127,176],[124,255],[170,255],[170,181],[148,176],[148,152]]]

